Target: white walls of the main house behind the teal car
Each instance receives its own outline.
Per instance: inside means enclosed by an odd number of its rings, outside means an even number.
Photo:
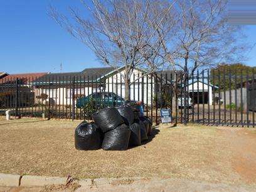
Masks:
[[[124,74],[124,71],[122,71],[121,73]],[[131,82],[136,80],[139,76],[141,76],[141,72],[139,72],[138,70],[134,70],[131,76]],[[142,80],[144,81],[144,83],[142,83]],[[148,85],[147,85],[147,82],[148,82]],[[122,84],[122,88],[121,88],[121,84]],[[143,91],[144,94],[142,94],[142,87],[144,87],[144,91]],[[124,79],[122,78],[120,73],[114,74],[113,76],[106,78],[105,91],[117,93],[117,95],[119,96],[122,95],[122,98],[125,97]],[[61,88],[51,88],[50,92],[48,90],[48,87],[46,87],[46,89],[35,88],[35,92],[36,92],[35,97],[36,95],[40,95],[41,93],[46,93],[47,95],[50,95],[50,98],[55,100],[56,105],[72,104],[72,99],[70,97],[70,94],[72,95],[72,89],[70,92],[70,86],[61,87]],[[80,95],[85,95],[86,97],[87,95],[90,95],[93,92],[96,92],[95,84],[93,84],[93,88],[82,86],[81,92],[80,92],[80,85],[78,85],[78,87],[75,85],[75,95],[80,94]],[[97,92],[100,92],[99,87],[97,88]],[[154,79],[152,80],[152,92],[153,92],[152,95],[154,95]],[[144,95],[143,98],[142,98],[142,95]],[[147,77],[145,76],[144,78],[140,78],[134,84],[131,85],[131,100],[136,100],[136,101],[144,100],[144,102],[147,102],[149,105],[151,105],[151,77],[148,76],[148,79],[147,79]],[[38,100],[36,102],[38,102]]]

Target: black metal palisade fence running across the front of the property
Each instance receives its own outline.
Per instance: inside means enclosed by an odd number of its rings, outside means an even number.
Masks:
[[[142,100],[144,114],[156,124],[161,122],[161,109],[170,109],[176,124],[255,126],[253,70],[203,70],[184,77],[181,72],[134,73],[130,100]],[[0,113],[11,110],[19,117],[90,119],[100,107],[125,102],[124,93],[119,73],[101,77],[65,73],[40,78],[7,76],[0,80]]]

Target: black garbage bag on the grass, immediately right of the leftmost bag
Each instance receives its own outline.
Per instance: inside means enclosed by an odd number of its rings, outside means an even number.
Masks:
[[[128,148],[131,130],[125,124],[105,132],[102,149],[112,151],[124,151]]]

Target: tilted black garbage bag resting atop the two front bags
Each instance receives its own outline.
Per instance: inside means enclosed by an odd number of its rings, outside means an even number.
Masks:
[[[93,120],[100,126],[103,132],[115,129],[118,125],[124,123],[118,110],[114,107],[100,109],[92,115]]]

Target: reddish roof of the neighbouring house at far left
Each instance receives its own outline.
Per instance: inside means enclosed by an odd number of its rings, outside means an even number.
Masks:
[[[36,80],[40,77],[43,77],[47,73],[20,73],[20,74],[10,74],[4,78],[0,79],[1,84],[14,83],[18,78],[22,83],[28,83],[30,81]]]

